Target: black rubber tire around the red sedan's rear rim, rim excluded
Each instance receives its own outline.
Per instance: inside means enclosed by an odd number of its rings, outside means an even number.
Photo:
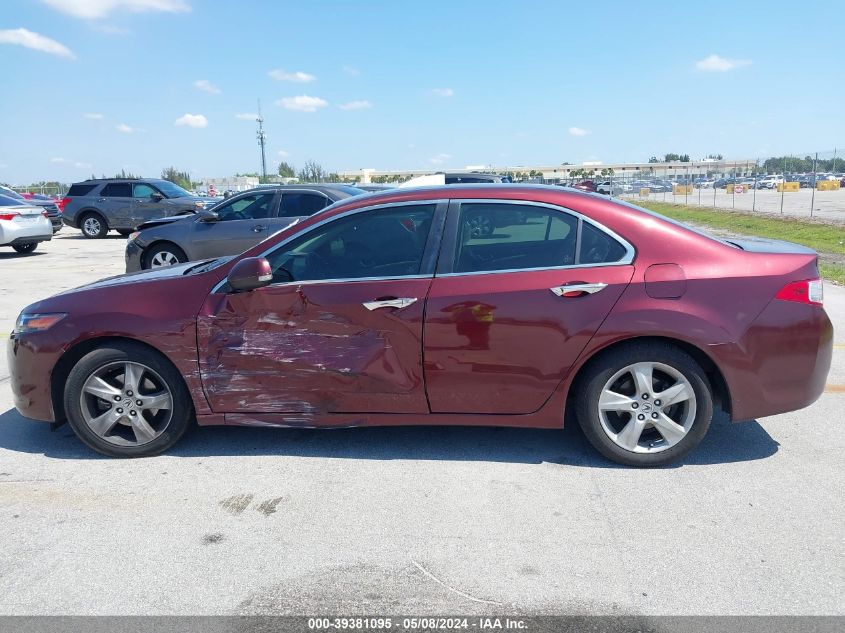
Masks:
[[[626,450],[610,438],[602,425],[599,413],[602,390],[617,372],[634,363],[660,363],[673,368],[690,383],[695,394],[695,416],[686,435],[659,452]],[[600,355],[585,367],[573,389],[578,394],[576,417],[587,440],[607,459],[626,466],[664,466],[681,459],[704,439],[713,418],[713,395],[707,375],[689,354],[668,343],[632,343]]]

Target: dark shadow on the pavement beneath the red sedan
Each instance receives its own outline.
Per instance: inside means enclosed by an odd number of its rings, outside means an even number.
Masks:
[[[40,453],[56,459],[105,459],[82,444],[70,427],[55,432],[14,409],[0,414],[0,449]],[[774,455],[778,443],[756,421],[733,424],[717,417],[701,445],[681,462],[708,465],[753,461]],[[553,463],[589,468],[623,468],[605,460],[577,424],[563,430],[497,427],[366,427],[273,429],[206,427],[192,429],[168,455],[278,455],[335,459],[419,459]]]

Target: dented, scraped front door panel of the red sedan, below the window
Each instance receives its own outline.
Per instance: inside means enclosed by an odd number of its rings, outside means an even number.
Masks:
[[[209,295],[203,386],[222,413],[427,413],[422,325],[431,277],[291,282]]]

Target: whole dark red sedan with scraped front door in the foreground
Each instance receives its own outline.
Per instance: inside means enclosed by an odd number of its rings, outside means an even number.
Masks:
[[[491,235],[472,232],[488,215]],[[816,254],[725,241],[559,187],[392,190],[240,256],[27,307],[18,410],[94,450],[160,453],[190,424],[560,428],[635,466],[822,393]]]

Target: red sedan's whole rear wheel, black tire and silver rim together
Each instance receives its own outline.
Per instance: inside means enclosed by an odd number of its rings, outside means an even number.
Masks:
[[[669,344],[637,343],[596,360],[577,385],[584,435],[608,459],[662,466],[694,449],[713,417],[707,375]]]

